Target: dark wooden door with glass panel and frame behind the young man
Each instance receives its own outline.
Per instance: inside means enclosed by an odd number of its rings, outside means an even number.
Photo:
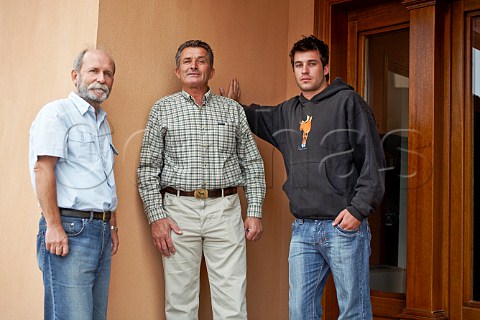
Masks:
[[[321,1],[318,9],[319,36],[330,44],[331,79],[344,78],[367,100],[384,138],[391,170],[384,201],[369,217],[371,297],[375,319],[396,319],[406,292],[407,189],[401,177],[408,157],[401,150],[408,149],[409,13],[400,1]],[[323,304],[324,319],[336,319],[331,279]]]

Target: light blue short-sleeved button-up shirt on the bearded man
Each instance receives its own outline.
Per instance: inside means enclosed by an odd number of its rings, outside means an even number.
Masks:
[[[112,143],[106,113],[75,93],[53,101],[38,113],[30,129],[30,175],[38,156],[54,156],[57,201],[61,208],[114,211],[117,192],[113,176]]]

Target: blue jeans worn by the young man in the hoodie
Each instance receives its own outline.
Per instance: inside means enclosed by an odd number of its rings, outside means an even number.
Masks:
[[[320,299],[332,273],[341,319],[372,319],[370,303],[370,228],[332,226],[332,220],[296,219],[289,263],[290,320],[321,319]]]

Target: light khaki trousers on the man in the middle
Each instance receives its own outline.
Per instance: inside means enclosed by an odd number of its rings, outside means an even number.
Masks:
[[[246,244],[238,194],[207,198],[165,193],[175,255],[163,257],[167,320],[198,319],[200,264],[205,256],[213,319],[247,319]]]

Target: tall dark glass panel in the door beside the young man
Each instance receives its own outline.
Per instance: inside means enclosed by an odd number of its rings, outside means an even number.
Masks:
[[[405,293],[407,256],[409,30],[365,37],[364,97],[387,162],[385,196],[369,217],[372,290]]]

